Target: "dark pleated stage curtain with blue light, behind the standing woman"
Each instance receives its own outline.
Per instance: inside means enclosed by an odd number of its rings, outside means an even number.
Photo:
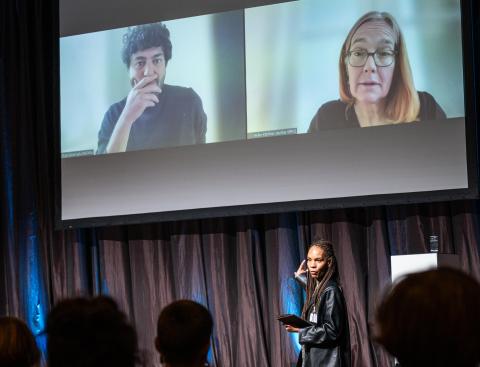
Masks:
[[[298,344],[276,316],[300,312],[292,274],[322,237],[336,246],[353,365],[379,367],[390,360],[371,328],[390,255],[427,252],[436,234],[440,252],[480,279],[477,201],[55,231],[57,3],[4,0],[0,9],[0,314],[38,333],[59,299],[109,294],[136,326],[145,364],[158,366],[159,310],[190,298],[213,314],[213,365],[290,366]]]

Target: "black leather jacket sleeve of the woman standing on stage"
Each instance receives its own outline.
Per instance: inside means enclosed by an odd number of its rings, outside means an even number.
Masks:
[[[315,326],[300,329],[300,344],[330,346],[340,340],[345,320],[343,295],[338,287],[328,287],[321,295],[320,309]]]

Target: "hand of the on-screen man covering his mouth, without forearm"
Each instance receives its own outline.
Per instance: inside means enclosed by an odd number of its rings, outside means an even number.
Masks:
[[[122,114],[126,121],[135,122],[148,107],[153,107],[158,103],[157,94],[162,93],[162,89],[157,84],[158,75],[148,75],[135,83],[127,96],[127,102]]]

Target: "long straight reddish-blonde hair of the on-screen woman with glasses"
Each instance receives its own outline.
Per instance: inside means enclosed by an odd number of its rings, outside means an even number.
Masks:
[[[393,123],[412,122],[418,120],[420,112],[420,100],[413,84],[412,71],[408,61],[407,48],[400,27],[395,18],[387,12],[372,11],[364,14],[353,25],[342,46],[339,59],[340,71],[340,99],[352,106],[355,98],[350,93],[348,84],[348,52],[352,44],[352,39],[358,28],[365,23],[372,21],[383,21],[393,31],[395,35],[395,70],[393,72],[392,84],[388,95],[386,96],[385,114]]]

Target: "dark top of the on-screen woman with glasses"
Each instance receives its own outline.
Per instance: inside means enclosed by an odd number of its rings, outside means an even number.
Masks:
[[[435,101],[435,98],[427,92],[418,92],[420,99],[420,121],[441,120],[447,116],[442,107]],[[308,128],[308,132],[329,129],[347,129],[360,127],[357,114],[353,106],[340,100],[330,101],[323,104],[315,114]]]

